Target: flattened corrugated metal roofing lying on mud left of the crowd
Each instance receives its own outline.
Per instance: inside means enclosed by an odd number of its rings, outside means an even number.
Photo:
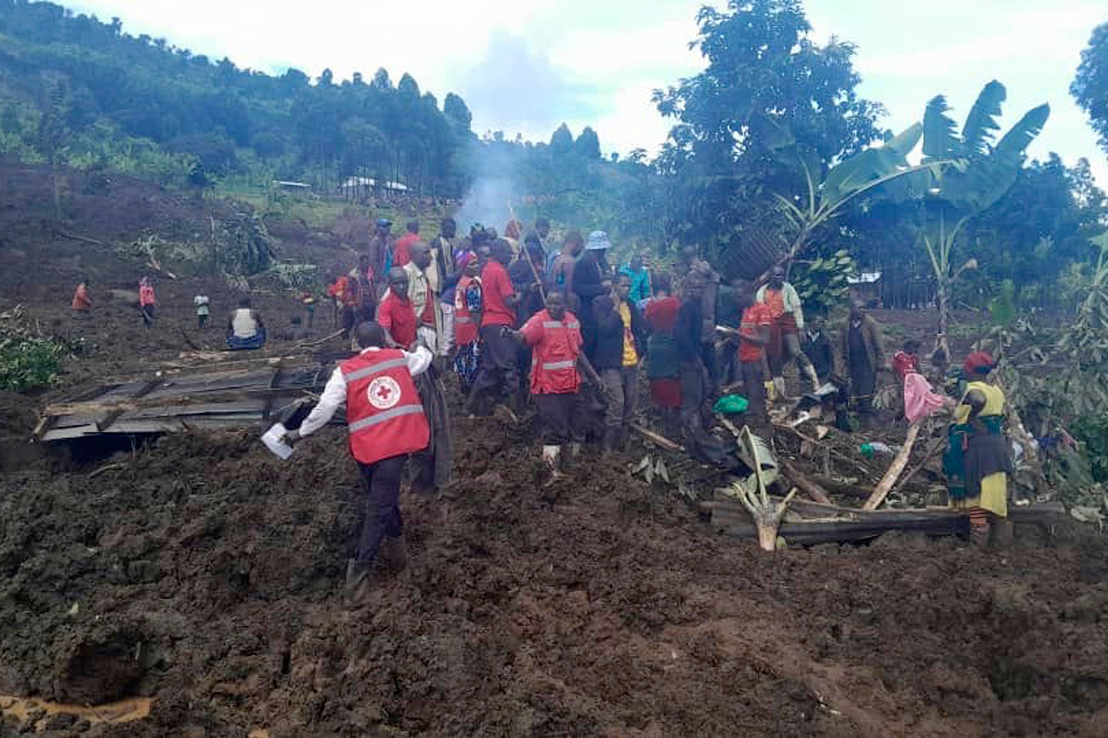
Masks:
[[[254,428],[297,401],[318,396],[332,357],[237,359],[187,367],[168,365],[151,377],[101,385],[50,404],[34,435],[68,441],[102,434],[188,429]]]

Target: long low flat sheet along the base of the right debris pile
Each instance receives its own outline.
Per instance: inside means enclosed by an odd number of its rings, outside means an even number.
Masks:
[[[725,494],[712,502],[701,503],[711,513],[711,524],[739,539],[758,539],[758,530],[742,503]],[[1061,503],[1008,508],[1008,520],[1049,526],[1066,516]],[[821,543],[860,543],[890,531],[916,531],[927,535],[965,535],[970,532],[967,512],[947,508],[863,511],[856,508],[824,505],[793,500],[789,514],[781,522],[778,535],[792,545]]]

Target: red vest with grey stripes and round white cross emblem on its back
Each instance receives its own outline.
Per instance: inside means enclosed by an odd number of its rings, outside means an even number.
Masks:
[[[347,430],[356,460],[371,464],[427,448],[431,428],[403,351],[366,351],[339,370],[347,385]]]

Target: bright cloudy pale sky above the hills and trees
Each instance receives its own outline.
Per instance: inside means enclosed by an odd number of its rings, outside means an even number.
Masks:
[[[620,154],[657,151],[671,122],[652,91],[704,68],[689,49],[700,0],[58,1],[242,68],[312,78],[330,68],[347,79],[384,66],[393,81],[410,72],[440,103],[459,93],[478,133],[548,141],[562,122],[574,134],[591,125],[605,152]],[[961,122],[998,79],[1008,90],[1003,130],[1048,102],[1030,155],[1084,156],[1108,188],[1108,153],[1069,95],[1081,50],[1108,21],[1104,0],[807,0],[804,9],[815,41],[855,44],[859,93],[884,104],[883,126],[907,127],[940,93]]]

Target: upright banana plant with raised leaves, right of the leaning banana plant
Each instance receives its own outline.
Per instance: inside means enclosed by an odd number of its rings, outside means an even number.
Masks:
[[[924,205],[927,225],[921,240],[935,275],[938,303],[936,348],[950,356],[946,339],[950,325],[951,288],[970,259],[954,268],[953,253],[958,236],[972,218],[993,206],[1016,182],[1027,146],[1043,131],[1050,116],[1047,104],[1033,107],[997,142],[997,117],[1007,98],[1003,84],[993,80],[977,95],[961,135],[947,115],[946,98],[936,95],[923,115],[923,176],[927,178]]]

